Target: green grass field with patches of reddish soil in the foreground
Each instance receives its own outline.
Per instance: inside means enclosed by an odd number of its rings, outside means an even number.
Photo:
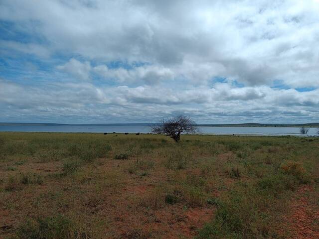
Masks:
[[[319,238],[319,138],[0,133],[0,238]]]

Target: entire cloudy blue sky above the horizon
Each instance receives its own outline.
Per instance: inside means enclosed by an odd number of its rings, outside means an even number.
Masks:
[[[319,0],[0,0],[0,122],[319,122]]]

